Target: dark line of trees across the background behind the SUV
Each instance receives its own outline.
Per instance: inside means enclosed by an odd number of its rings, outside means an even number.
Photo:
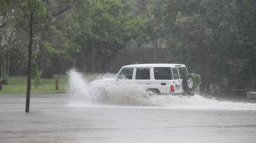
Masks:
[[[256,88],[254,0],[28,1],[38,83],[70,68],[105,73],[154,62],[186,64],[207,94]],[[28,1],[0,1],[4,83],[27,72]]]

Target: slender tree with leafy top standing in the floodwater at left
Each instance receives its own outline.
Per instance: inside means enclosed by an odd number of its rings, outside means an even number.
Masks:
[[[19,21],[21,28],[29,36],[28,40],[28,64],[27,64],[27,98],[26,112],[29,112],[30,89],[31,89],[31,67],[33,57],[33,37],[38,31],[41,31],[45,26],[49,26],[51,21],[47,18],[45,5],[39,0],[27,0],[21,3]],[[27,29],[29,25],[29,29]],[[34,63],[36,64],[36,63]]]

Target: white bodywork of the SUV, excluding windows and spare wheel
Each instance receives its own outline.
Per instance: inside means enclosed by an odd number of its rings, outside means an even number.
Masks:
[[[133,73],[131,79],[118,79],[119,73],[124,68],[133,68]],[[135,75],[137,72],[137,68],[149,68],[150,71],[150,79],[135,79]],[[161,94],[185,94],[185,90],[183,90],[182,81],[183,79],[172,79],[171,80],[156,80],[154,77],[154,68],[187,68],[183,64],[133,64],[133,65],[125,65],[123,66],[119,72],[117,73],[115,78],[108,78],[104,80],[95,80],[90,83],[93,87],[100,87],[108,84],[116,84],[118,85],[121,82],[129,83],[140,87],[141,89],[158,89]],[[173,73],[173,72],[171,72]],[[178,72],[179,73],[179,72]],[[187,72],[188,73],[188,72]],[[171,86],[174,86],[174,92],[171,92]],[[125,85],[124,85],[125,86]]]

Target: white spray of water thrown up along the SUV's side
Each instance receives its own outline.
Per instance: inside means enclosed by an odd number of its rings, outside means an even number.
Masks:
[[[68,106],[71,107],[118,107],[118,108],[166,108],[185,110],[254,110],[255,103],[227,102],[200,95],[189,96],[149,96],[138,86],[127,83],[105,85],[101,90],[91,88],[89,75],[83,76],[75,70],[70,70]],[[96,77],[102,79],[113,77],[105,74]],[[95,78],[95,77],[94,77]]]

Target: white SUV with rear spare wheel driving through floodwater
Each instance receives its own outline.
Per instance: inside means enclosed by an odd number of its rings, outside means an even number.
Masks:
[[[95,80],[93,87],[126,82],[155,94],[193,95],[194,78],[183,64],[132,64],[125,65],[115,78]]]

